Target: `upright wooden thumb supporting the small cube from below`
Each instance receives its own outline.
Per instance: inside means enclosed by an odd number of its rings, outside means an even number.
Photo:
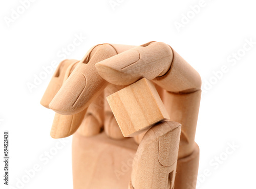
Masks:
[[[174,188],[180,131],[180,123],[163,121],[145,133],[134,157],[129,187]]]

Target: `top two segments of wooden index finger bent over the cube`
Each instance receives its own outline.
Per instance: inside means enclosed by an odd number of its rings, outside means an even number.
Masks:
[[[176,51],[162,42],[150,42],[98,62],[98,73],[115,85],[130,85],[145,77],[170,92],[201,88],[201,77]]]

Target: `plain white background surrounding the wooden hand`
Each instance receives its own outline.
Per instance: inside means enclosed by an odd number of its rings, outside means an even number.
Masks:
[[[80,60],[91,46],[104,42],[171,45],[200,73],[205,90],[196,134],[201,150],[197,188],[255,187],[256,44],[243,50],[246,40],[256,42],[255,2],[205,0],[195,15],[190,6],[199,5],[198,0],[119,2],[113,10],[109,0],[36,0],[24,13],[17,0],[1,2],[0,146],[3,131],[9,130],[10,184],[17,188],[25,170],[39,165],[41,170],[20,188],[72,188],[71,138],[49,162],[39,159],[58,142],[49,134],[54,112],[39,104],[53,72],[32,91],[27,84],[44,71],[42,66],[60,62],[58,52],[77,34],[87,39],[67,58]],[[8,24],[12,9],[20,14]],[[175,23],[182,23],[183,14],[190,18],[178,30]],[[238,51],[239,60],[228,61]],[[228,71],[216,80],[213,71],[223,65]],[[229,143],[239,147],[227,155]],[[216,165],[218,156],[222,161]],[[0,166],[2,175],[2,160]]]

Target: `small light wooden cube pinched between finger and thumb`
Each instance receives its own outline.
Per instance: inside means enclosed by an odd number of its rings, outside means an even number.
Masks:
[[[169,119],[155,86],[146,78],[107,97],[124,137],[133,137]]]

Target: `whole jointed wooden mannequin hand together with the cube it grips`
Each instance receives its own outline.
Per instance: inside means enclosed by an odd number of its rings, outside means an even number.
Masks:
[[[41,104],[56,112],[53,138],[73,134],[74,188],[196,188],[200,88],[162,42],[99,44],[62,61]]]

